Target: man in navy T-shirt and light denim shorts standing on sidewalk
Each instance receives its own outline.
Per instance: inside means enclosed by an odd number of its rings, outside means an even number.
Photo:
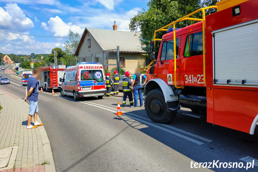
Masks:
[[[26,97],[24,99],[25,102],[30,101],[30,111],[28,115],[28,123],[27,129],[37,128],[38,126],[42,126],[38,122],[38,79],[40,78],[40,68],[35,68],[32,71],[32,77],[28,79],[28,84],[26,88]],[[32,116],[34,116],[34,125],[31,125]]]

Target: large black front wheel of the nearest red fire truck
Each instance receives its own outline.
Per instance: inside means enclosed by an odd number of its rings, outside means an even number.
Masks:
[[[161,89],[150,91],[145,98],[145,111],[149,118],[156,123],[166,124],[176,116],[176,111],[168,112],[167,103]]]

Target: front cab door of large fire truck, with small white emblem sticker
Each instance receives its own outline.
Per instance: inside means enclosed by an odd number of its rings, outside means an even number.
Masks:
[[[176,74],[177,74],[177,85],[180,85],[178,80],[178,66],[179,66],[179,43],[180,43],[180,36],[175,39],[176,42]],[[161,45],[161,55],[160,61],[158,65],[158,77],[163,78],[167,81],[168,85],[173,85],[174,83],[174,44],[173,39],[169,41],[163,42]]]

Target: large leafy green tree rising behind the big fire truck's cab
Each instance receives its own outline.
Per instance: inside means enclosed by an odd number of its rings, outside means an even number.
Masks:
[[[149,52],[149,41],[153,40],[154,31],[199,9],[201,0],[150,0],[147,6],[147,10],[138,11],[138,14],[131,19],[129,28],[134,32],[141,31],[141,45],[143,50]],[[192,23],[194,22],[190,22]],[[176,28],[183,28],[187,24],[186,21],[178,22]],[[172,25],[169,28],[171,27]],[[164,31],[158,32],[156,38],[161,38],[163,34]],[[158,48],[159,44],[156,44],[156,52]]]

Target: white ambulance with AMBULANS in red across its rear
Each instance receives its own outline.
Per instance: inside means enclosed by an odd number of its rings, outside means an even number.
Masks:
[[[67,66],[60,89],[61,96],[73,96],[77,101],[82,97],[102,98],[106,91],[106,76],[100,63],[78,63]]]

